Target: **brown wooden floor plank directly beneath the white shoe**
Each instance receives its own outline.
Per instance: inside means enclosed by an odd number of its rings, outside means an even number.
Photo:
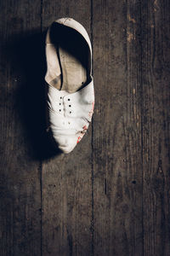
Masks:
[[[42,3],[42,28],[71,17],[90,34],[90,1]],[[42,255],[90,255],[91,128],[70,154],[42,165]]]

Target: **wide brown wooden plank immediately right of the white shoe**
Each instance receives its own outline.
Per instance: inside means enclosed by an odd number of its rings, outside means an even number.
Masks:
[[[94,255],[143,255],[140,9],[93,1]]]

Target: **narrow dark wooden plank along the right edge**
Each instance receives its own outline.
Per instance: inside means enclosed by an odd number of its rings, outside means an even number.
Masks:
[[[170,255],[170,3],[143,1],[144,255]]]

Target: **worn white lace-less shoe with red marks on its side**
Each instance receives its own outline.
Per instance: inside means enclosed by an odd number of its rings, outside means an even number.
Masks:
[[[92,46],[76,20],[55,20],[46,37],[49,129],[64,153],[70,153],[88,129],[94,113]]]

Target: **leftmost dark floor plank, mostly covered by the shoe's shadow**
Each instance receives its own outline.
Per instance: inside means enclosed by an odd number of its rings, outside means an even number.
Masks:
[[[40,160],[32,154],[28,135],[28,123],[36,126],[31,118],[36,84],[32,78],[28,84],[25,74],[31,76],[35,67],[35,44],[29,44],[28,34],[33,29],[40,32],[41,4],[7,0],[0,2],[0,9],[0,255],[37,256],[41,254]]]

